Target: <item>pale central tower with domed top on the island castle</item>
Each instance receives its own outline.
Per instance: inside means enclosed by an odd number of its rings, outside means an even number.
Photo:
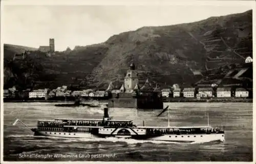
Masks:
[[[126,76],[124,77],[124,88],[125,90],[134,90],[136,84],[139,84],[138,73],[135,70],[135,65],[130,65],[130,70],[127,70]]]

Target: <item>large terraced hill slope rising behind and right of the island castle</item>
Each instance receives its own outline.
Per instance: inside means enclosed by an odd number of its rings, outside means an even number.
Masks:
[[[106,44],[109,50],[92,72],[92,80],[100,81],[98,85],[121,80],[131,62],[143,80],[195,83],[191,70],[243,63],[252,54],[252,11],[193,23],[143,27],[112,36]]]

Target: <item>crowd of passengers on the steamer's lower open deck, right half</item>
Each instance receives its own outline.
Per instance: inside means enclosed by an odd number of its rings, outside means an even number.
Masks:
[[[209,133],[219,133],[220,128],[215,129],[197,129],[197,130],[191,130],[191,129],[147,129],[147,134],[209,134]]]

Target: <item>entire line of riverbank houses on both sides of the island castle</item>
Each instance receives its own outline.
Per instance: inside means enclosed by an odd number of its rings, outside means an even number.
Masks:
[[[11,97],[15,93],[15,87],[4,90],[4,97]],[[28,98],[44,98],[51,99],[54,97],[94,97],[94,98],[107,98],[111,93],[120,93],[121,90],[106,90],[106,91],[93,91],[91,89],[82,91],[70,91],[67,86],[58,87],[54,90],[38,89],[38,90],[24,90],[23,96]],[[214,91],[212,88],[184,88],[173,87],[172,89],[162,89],[162,97],[249,97],[249,92],[244,88],[217,88]]]

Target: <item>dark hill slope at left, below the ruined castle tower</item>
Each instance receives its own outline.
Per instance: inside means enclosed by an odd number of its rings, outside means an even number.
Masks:
[[[84,78],[98,65],[106,51],[104,44],[97,44],[69,53],[56,52],[51,57],[44,52],[30,51],[25,59],[17,56],[13,60],[15,50],[12,48],[7,49],[4,45],[5,87],[17,85],[21,88],[29,81],[33,81],[28,83],[29,86],[36,88],[83,84]],[[35,68],[40,68],[40,72]]]

